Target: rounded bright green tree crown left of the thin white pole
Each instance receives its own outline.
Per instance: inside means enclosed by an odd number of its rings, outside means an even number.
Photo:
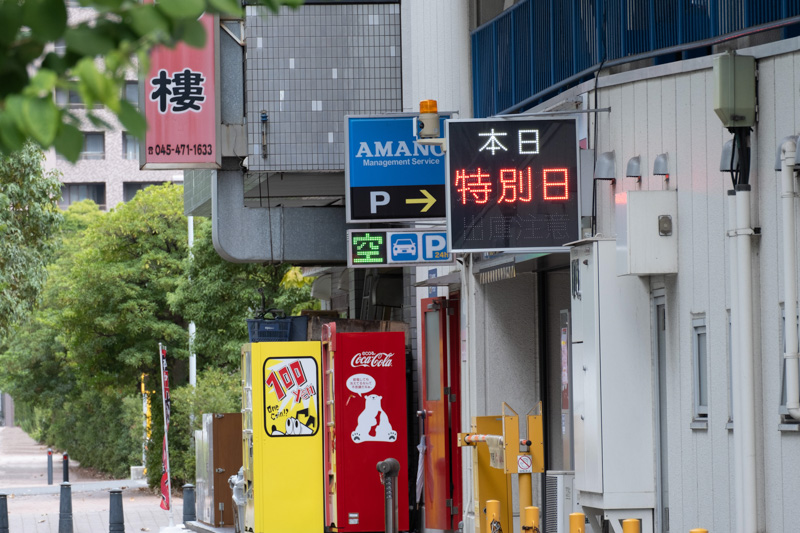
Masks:
[[[187,255],[182,190],[148,187],[83,235],[60,318],[82,380],[130,386],[157,374],[159,341],[187,359],[188,322],[167,306]]]

